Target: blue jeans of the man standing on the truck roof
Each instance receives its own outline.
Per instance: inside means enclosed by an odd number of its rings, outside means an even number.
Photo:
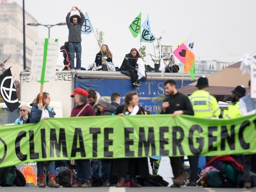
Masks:
[[[74,59],[76,53],[76,69],[81,69],[81,54],[82,47],[81,43],[69,42],[68,52],[70,54],[70,69],[74,69]]]

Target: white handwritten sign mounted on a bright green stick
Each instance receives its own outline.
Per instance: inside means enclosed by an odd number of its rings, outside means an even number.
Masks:
[[[48,44],[45,45],[46,40],[40,38],[34,42],[30,82],[43,80],[41,83],[44,83],[45,81],[55,80],[59,40],[50,38],[48,39]],[[45,48],[47,48],[47,54]],[[46,63],[45,68],[43,68],[44,62]]]

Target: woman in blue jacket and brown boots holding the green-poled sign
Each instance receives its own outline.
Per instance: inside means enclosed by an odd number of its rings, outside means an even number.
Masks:
[[[30,123],[38,123],[41,120],[48,118],[54,118],[53,109],[49,106],[50,96],[48,93],[43,92],[43,100],[39,102],[39,95],[36,97],[36,103],[32,106],[30,114]],[[55,180],[55,161],[49,161],[50,178],[48,181],[48,187],[59,187],[60,185]],[[39,187],[46,186],[46,179],[44,175],[44,162],[37,162],[37,170],[39,176]]]

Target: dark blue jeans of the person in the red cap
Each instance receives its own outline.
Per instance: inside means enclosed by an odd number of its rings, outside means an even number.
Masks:
[[[84,184],[84,182],[92,178],[90,160],[76,160],[76,176],[80,184]]]

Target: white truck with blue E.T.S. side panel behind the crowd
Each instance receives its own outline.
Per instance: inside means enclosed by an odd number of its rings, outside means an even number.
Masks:
[[[197,80],[202,74],[196,74],[194,80]],[[62,103],[63,117],[69,117],[74,102],[70,95],[74,88],[93,88],[100,93],[101,96],[110,96],[112,92],[118,92],[122,96],[124,102],[125,94],[129,91],[136,90],[139,96],[139,104],[146,110],[156,114],[160,112],[160,102],[152,102],[156,98],[164,94],[164,81],[172,79],[177,83],[177,87],[181,87],[182,74],[165,73],[164,77],[161,73],[147,72],[147,80],[141,81],[139,88],[132,86],[129,76],[125,76],[120,72],[109,71],[61,71],[56,72],[54,82],[44,83],[44,91],[50,94],[51,100],[60,101]],[[184,75],[183,86],[190,84],[190,76]],[[20,98],[25,101],[33,101],[40,92],[40,83],[30,82],[30,72],[20,73]]]

